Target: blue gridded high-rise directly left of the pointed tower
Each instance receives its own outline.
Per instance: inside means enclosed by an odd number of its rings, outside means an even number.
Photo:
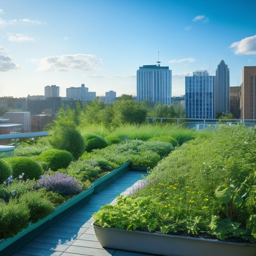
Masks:
[[[215,118],[214,77],[207,70],[197,70],[185,76],[186,118]]]

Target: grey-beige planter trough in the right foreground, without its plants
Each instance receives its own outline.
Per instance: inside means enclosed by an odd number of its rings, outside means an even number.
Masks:
[[[106,248],[169,256],[256,256],[256,245],[94,226]]]

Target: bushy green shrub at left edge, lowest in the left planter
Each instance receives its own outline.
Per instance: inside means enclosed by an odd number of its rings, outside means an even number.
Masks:
[[[28,227],[29,209],[25,204],[15,201],[0,202],[0,239],[12,237]]]

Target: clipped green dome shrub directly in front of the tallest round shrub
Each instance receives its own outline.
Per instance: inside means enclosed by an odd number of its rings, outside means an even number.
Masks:
[[[52,171],[57,171],[61,168],[66,168],[73,161],[73,155],[61,149],[49,149],[42,152],[38,160],[48,163],[48,168]]]

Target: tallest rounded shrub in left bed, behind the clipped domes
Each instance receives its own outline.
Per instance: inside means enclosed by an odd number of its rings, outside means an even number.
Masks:
[[[85,141],[74,125],[57,124],[49,134],[49,143],[57,149],[70,152],[75,159],[85,151]]]

